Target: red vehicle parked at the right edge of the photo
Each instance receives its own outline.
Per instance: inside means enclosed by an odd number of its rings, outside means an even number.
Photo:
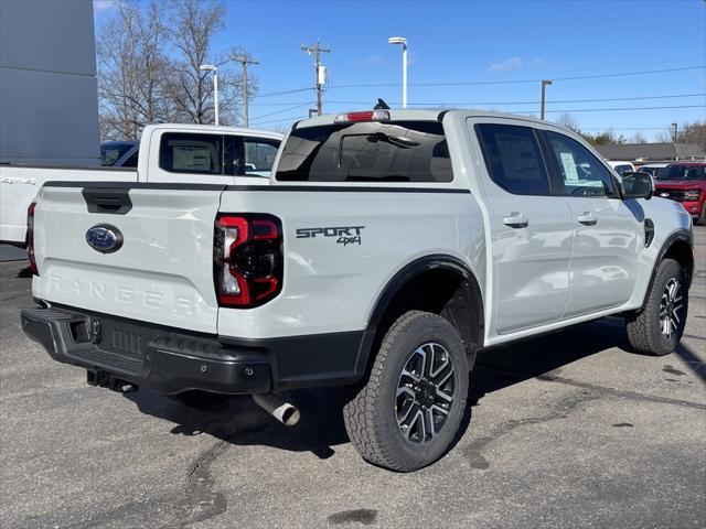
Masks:
[[[706,224],[706,163],[675,162],[657,171],[655,195],[681,202],[696,224]]]

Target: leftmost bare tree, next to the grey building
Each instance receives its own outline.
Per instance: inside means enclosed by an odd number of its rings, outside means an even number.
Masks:
[[[156,0],[145,11],[129,0],[117,7],[96,44],[100,130],[104,139],[137,139],[170,114],[162,94],[167,29]]]

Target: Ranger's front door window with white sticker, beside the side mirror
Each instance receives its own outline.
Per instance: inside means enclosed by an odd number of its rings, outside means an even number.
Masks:
[[[610,171],[578,141],[557,132],[545,132],[560,180],[559,193],[567,196],[611,196]],[[561,188],[563,187],[563,188]]]

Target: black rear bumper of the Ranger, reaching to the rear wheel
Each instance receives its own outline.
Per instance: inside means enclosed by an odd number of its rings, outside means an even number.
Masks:
[[[366,332],[225,338],[71,307],[25,309],[22,330],[57,361],[165,393],[264,393],[357,381]]]

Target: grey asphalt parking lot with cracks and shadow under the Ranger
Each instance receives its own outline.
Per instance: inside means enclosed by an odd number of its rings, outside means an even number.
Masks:
[[[437,464],[364,463],[342,390],[185,407],[89,387],[20,330],[23,261],[0,263],[2,528],[706,527],[706,228],[677,353],[602,320],[484,354],[466,433]],[[21,276],[21,274],[20,274]]]

